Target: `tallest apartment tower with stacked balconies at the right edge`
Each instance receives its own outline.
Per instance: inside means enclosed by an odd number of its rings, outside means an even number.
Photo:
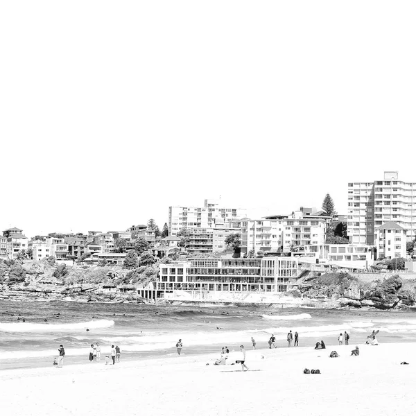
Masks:
[[[384,172],[383,180],[349,182],[347,235],[349,242],[374,245],[376,229],[393,221],[416,236],[416,182],[399,180],[398,172]]]

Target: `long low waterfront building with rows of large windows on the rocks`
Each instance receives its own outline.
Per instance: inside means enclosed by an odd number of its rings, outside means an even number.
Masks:
[[[154,290],[168,299],[220,300],[225,294],[241,300],[250,294],[286,292],[300,279],[297,259],[190,259],[162,263]]]

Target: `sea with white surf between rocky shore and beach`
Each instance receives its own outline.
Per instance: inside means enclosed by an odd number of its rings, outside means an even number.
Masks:
[[[18,319],[20,318],[20,319]],[[23,322],[23,318],[25,322]],[[347,331],[349,343],[364,343],[379,329],[379,343],[416,342],[416,315],[404,311],[275,309],[255,306],[165,306],[78,302],[0,303],[0,370],[45,367],[64,345],[65,365],[88,363],[89,345],[101,344],[101,356],[119,345],[121,360],[176,356],[182,339],[184,355],[218,353],[227,346],[268,348],[274,333],[286,347],[289,330],[299,333],[300,347],[324,340],[338,345]],[[88,331],[87,331],[88,330]]]

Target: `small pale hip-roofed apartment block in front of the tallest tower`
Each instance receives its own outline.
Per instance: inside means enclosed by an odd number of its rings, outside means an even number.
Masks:
[[[404,257],[406,259],[406,229],[393,221],[376,227],[375,246],[377,258]]]

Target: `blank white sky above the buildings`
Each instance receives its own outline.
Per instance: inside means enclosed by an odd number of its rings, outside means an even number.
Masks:
[[[3,1],[0,229],[250,216],[416,182],[415,1]]]

